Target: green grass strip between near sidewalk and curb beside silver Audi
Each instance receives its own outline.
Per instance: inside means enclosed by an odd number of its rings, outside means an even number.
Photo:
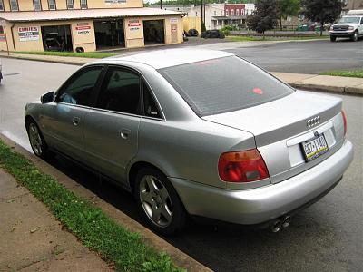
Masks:
[[[83,245],[114,263],[117,271],[183,271],[174,267],[169,256],[147,246],[141,235],[118,225],[101,209],[65,189],[1,140],[0,167],[41,200]]]

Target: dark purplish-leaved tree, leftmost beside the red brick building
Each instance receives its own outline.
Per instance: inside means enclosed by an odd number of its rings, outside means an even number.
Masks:
[[[255,11],[247,17],[247,25],[250,29],[265,35],[266,30],[277,24],[277,18],[277,0],[258,0]]]

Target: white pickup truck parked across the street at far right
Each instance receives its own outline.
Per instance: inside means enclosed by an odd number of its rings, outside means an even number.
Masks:
[[[342,16],[337,24],[330,27],[330,41],[335,42],[337,38],[350,38],[358,41],[363,36],[363,10],[351,10],[348,15]]]

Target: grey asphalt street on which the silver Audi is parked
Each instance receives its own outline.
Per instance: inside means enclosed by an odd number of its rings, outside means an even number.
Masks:
[[[3,66],[0,132],[29,148],[23,123],[25,102],[55,90],[77,67],[12,59],[3,59]],[[347,111],[348,139],[355,145],[355,160],[328,196],[296,215],[290,227],[277,234],[191,222],[180,236],[166,239],[217,271],[361,271],[363,97],[338,96]],[[101,183],[93,173],[59,156],[51,163],[133,219],[140,220],[132,197],[122,189],[105,181]]]

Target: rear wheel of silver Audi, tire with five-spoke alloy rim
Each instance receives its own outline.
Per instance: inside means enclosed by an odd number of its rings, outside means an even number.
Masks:
[[[134,196],[145,222],[163,235],[181,231],[186,212],[172,183],[159,170],[143,168],[136,175]]]

